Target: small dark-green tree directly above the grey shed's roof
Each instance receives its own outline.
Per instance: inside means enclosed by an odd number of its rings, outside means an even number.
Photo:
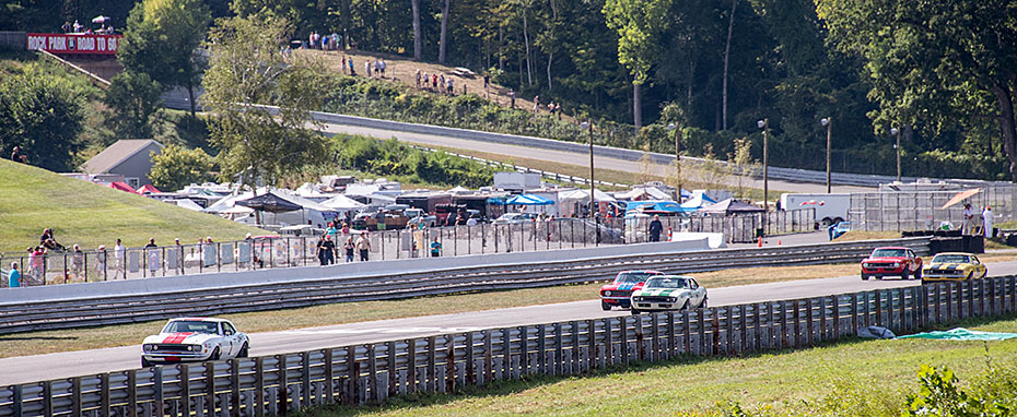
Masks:
[[[145,73],[124,71],[113,78],[104,102],[113,112],[113,131],[124,138],[152,138],[162,108],[162,86]]]

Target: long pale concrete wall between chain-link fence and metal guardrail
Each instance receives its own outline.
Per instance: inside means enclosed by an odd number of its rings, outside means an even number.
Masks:
[[[384,262],[353,262],[329,266],[301,266],[260,271],[208,273],[102,283],[63,284],[44,287],[0,289],[0,306],[33,301],[55,301],[159,294],[163,291],[204,290],[308,279],[384,276],[393,273],[422,273],[491,266],[519,265],[548,261],[580,261],[630,254],[674,253],[708,250],[706,239],[678,242],[633,243],[587,249],[562,249],[536,252],[494,253],[451,258],[419,258]]]

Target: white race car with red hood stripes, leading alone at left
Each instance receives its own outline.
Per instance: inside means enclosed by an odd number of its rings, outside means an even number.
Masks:
[[[211,318],[171,319],[162,332],[141,345],[141,367],[180,361],[246,358],[247,335],[229,320]]]

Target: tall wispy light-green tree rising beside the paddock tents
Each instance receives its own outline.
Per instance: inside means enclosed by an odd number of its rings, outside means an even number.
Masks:
[[[326,72],[284,55],[289,35],[284,20],[259,15],[222,20],[210,34],[202,105],[215,115],[211,142],[223,179],[274,184],[327,155],[327,141],[308,129],[328,90]]]

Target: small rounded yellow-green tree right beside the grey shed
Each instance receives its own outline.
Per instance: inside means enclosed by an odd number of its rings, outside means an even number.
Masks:
[[[152,171],[149,179],[159,189],[179,190],[191,183],[212,179],[213,160],[200,147],[188,150],[170,144],[156,154],[152,152]]]

